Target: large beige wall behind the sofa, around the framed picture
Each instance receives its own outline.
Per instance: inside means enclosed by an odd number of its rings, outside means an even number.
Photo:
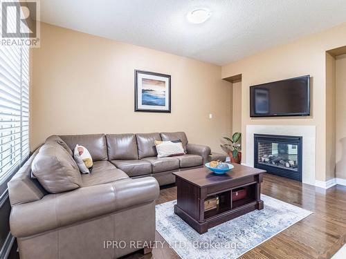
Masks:
[[[172,75],[172,113],[134,113],[135,69]],[[52,134],[185,131],[219,151],[232,130],[220,66],[42,23],[32,71],[31,148]]]

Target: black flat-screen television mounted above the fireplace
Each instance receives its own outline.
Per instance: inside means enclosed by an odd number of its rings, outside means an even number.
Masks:
[[[250,117],[310,115],[310,76],[250,87]]]

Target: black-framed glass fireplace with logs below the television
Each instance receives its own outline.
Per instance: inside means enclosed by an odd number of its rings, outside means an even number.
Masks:
[[[302,137],[254,134],[254,166],[302,182]]]

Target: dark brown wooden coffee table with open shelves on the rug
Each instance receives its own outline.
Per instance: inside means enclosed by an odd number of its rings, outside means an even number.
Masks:
[[[237,218],[255,209],[263,209],[261,200],[262,174],[266,171],[233,164],[234,169],[224,175],[212,173],[206,167],[173,173],[176,175],[177,202],[174,213],[198,233]],[[232,193],[246,190],[241,200],[233,200]],[[204,211],[207,198],[218,196],[219,205]]]

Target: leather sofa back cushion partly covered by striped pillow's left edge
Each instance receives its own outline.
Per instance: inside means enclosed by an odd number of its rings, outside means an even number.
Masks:
[[[155,157],[157,155],[155,140],[161,141],[160,133],[143,133],[136,134],[138,157]]]

